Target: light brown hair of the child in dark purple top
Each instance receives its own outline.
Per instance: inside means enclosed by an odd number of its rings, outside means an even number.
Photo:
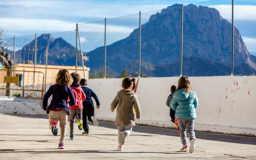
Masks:
[[[56,84],[59,85],[71,85],[73,82],[72,77],[70,76],[67,69],[59,70],[58,74],[56,75]]]

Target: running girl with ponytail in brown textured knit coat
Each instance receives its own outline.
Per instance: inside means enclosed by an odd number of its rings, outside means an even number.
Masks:
[[[132,126],[135,126],[133,106],[136,118],[141,118],[141,107],[136,93],[133,92],[135,87],[136,82],[134,78],[123,79],[123,89],[116,94],[115,99],[111,103],[111,112],[114,112],[116,109],[115,126],[118,127],[118,151],[123,151],[125,137],[132,133]]]

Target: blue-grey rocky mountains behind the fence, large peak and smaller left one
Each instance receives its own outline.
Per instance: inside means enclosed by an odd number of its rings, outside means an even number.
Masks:
[[[180,4],[169,6],[151,15],[141,26],[141,73],[151,77],[179,76],[180,11]],[[190,4],[184,6],[183,13],[183,75],[230,75],[231,23],[214,8]],[[64,39],[42,34],[37,44],[49,45],[48,64],[75,64],[75,47]],[[34,41],[24,47],[33,45]],[[87,56],[90,60],[85,65],[90,67],[91,74],[103,70],[104,46],[88,52]],[[123,69],[129,75],[138,72],[138,29],[106,46],[107,74],[117,77]],[[234,75],[241,73],[256,73],[256,57],[247,51],[239,30],[234,27]]]

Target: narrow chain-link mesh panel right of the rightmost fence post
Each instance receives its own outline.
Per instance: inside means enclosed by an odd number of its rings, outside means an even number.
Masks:
[[[256,1],[234,1],[234,75],[255,75]]]

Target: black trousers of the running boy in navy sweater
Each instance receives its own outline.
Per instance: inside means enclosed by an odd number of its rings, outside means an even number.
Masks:
[[[91,116],[94,116],[94,106],[92,103],[83,103],[83,130],[89,131],[89,126],[87,124],[88,120],[93,122]]]

